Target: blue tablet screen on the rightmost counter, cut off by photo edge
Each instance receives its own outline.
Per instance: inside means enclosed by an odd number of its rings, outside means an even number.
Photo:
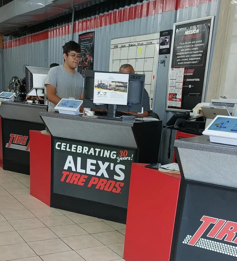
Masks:
[[[208,130],[237,133],[237,119],[218,117]]]

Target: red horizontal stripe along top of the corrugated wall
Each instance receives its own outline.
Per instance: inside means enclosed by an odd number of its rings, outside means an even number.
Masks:
[[[120,8],[108,13],[100,14],[95,17],[76,21],[74,23],[74,33],[83,32],[107,25],[117,24],[119,22],[130,21],[137,18],[148,17],[162,12],[174,11],[205,4],[207,2],[215,2],[216,0],[151,0],[150,2],[138,3],[129,7]],[[3,42],[3,49],[17,47],[33,42],[39,42],[46,39],[65,36],[71,33],[71,24],[61,27],[51,28],[43,32],[27,35],[13,40]]]

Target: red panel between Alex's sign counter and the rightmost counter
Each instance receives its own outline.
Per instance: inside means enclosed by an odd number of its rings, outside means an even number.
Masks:
[[[124,246],[126,261],[169,261],[181,175],[133,163]]]

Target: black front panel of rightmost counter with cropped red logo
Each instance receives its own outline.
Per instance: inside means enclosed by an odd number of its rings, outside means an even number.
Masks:
[[[174,261],[237,260],[236,189],[187,184]]]

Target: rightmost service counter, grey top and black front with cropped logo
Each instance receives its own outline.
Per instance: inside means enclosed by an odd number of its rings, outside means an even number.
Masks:
[[[172,260],[236,260],[237,146],[203,135],[175,147],[183,183]]]

